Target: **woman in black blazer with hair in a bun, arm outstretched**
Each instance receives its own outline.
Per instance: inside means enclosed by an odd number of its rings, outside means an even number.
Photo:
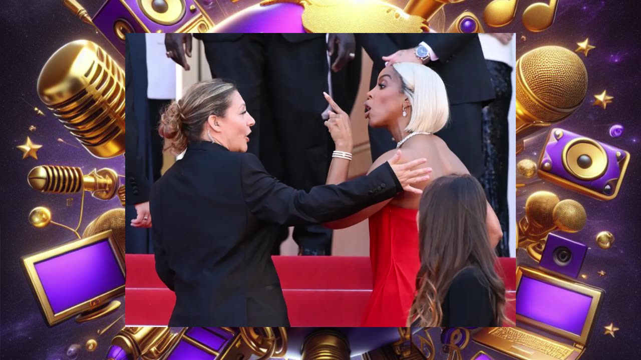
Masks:
[[[170,326],[288,326],[271,260],[278,225],[337,220],[428,177],[412,170],[425,159],[399,165],[397,156],[353,181],[294,190],[246,153],[253,124],[220,79],[192,86],[162,115],[165,150],[187,149],[150,196],[156,272],[176,292]],[[349,126],[332,131],[337,149],[351,152],[351,133],[340,129]]]

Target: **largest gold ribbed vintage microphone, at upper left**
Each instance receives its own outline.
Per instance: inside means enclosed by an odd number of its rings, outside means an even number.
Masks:
[[[99,45],[76,40],[58,49],[42,68],[37,90],[96,158],[124,154],[124,72]]]

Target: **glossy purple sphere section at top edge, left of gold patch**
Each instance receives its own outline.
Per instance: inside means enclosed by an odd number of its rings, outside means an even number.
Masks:
[[[256,4],[219,22],[212,33],[304,33],[303,10],[293,3]]]

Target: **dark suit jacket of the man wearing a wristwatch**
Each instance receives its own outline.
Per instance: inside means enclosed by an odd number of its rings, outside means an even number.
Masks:
[[[358,34],[357,38],[374,61],[370,88],[385,67],[381,57],[424,41],[438,56],[427,66],[443,79],[450,104],[482,102],[485,106],[495,97],[478,34]]]

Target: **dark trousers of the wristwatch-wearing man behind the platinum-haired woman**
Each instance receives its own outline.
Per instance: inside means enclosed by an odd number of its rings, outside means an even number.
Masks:
[[[436,133],[477,179],[485,171],[483,158],[483,108],[480,102],[450,105],[448,124]],[[395,140],[395,141],[394,141]],[[369,126],[372,161],[396,147],[387,129]]]

